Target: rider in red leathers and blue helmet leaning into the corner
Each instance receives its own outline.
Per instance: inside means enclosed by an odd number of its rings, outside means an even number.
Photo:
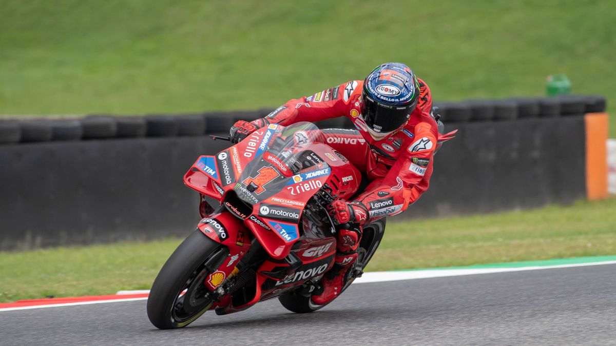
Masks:
[[[331,205],[337,233],[336,265],[312,296],[323,305],[344,286],[347,269],[357,259],[362,225],[400,214],[428,190],[434,151],[454,132],[439,134],[432,97],[425,82],[402,63],[385,63],[364,81],[349,81],[314,95],[290,100],[265,118],[238,121],[232,142],[268,124],[288,126],[346,116],[357,130],[325,129],[324,140],[365,174],[370,182],[353,201]]]

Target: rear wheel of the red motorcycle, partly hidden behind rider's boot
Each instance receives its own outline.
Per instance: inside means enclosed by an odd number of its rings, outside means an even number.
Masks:
[[[380,219],[363,227],[362,240],[359,243],[359,249],[357,249],[357,262],[355,262],[354,267],[349,267],[344,274],[344,287],[342,291],[340,291],[340,294],[351,286],[351,283],[355,280],[355,273],[357,273],[358,270],[359,272],[363,272],[363,269],[375,254],[377,247],[381,244],[381,239],[383,239],[385,224],[385,219]],[[287,310],[296,313],[314,312],[333,302],[332,299],[327,304],[315,304],[312,302],[310,293],[305,294],[302,291],[305,291],[305,289],[299,288],[292,292],[282,294],[278,297],[278,300],[280,300],[280,304]]]

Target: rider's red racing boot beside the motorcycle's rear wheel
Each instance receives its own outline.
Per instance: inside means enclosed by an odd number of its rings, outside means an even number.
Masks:
[[[341,293],[345,284],[345,276],[349,268],[354,267],[357,261],[357,247],[359,247],[360,238],[361,232],[359,230],[338,231],[335,263],[323,275],[320,288],[312,296],[314,304],[328,304]]]

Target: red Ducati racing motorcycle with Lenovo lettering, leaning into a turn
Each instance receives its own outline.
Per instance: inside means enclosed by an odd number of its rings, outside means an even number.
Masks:
[[[272,124],[197,159],[184,183],[200,193],[202,219],[156,276],[147,303],[154,326],[182,328],[208,310],[225,315],[275,297],[296,313],[325,306],[311,296],[334,264],[336,228],[326,207],[355,195],[361,174],[320,138],[312,123]],[[384,230],[384,219],[363,227],[342,292]]]

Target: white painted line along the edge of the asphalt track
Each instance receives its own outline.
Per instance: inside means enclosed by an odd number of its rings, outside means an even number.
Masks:
[[[546,265],[546,266],[541,266],[541,267],[426,269],[426,270],[408,270],[408,271],[401,270],[397,272],[368,272],[368,273],[364,273],[361,278],[355,279],[354,284],[381,283],[381,282],[386,282],[386,281],[416,280],[416,279],[427,279],[427,278],[442,278],[445,276],[461,276],[461,275],[491,274],[491,273],[505,273],[505,272],[525,272],[529,270],[588,267],[591,265],[606,265],[606,264],[616,264],[616,260],[604,261],[604,262],[588,262],[588,263],[579,263],[579,264]],[[146,290],[138,290],[138,291],[119,291],[117,294],[121,296],[125,294],[144,294],[148,292],[149,291],[146,289]],[[0,312],[12,311],[12,310],[28,310],[28,309],[33,309],[33,308],[54,308],[54,307],[70,307],[70,306],[75,306],[75,305],[131,302],[134,300],[146,300],[146,299],[147,297],[111,299],[111,300],[94,300],[91,302],[75,302],[75,303],[63,303],[63,304],[32,305],[28,307],[0,308]]]

